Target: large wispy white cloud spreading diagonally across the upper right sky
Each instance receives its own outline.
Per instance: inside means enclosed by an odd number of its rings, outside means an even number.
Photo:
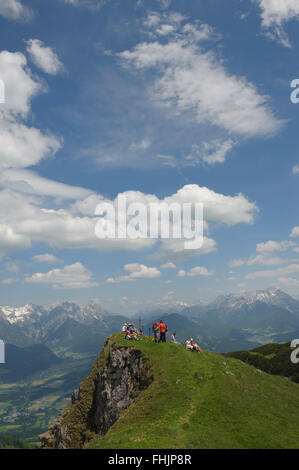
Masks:
[[[155,69],[153,99],[177,113],[192,112],[199,124],[246,138],[276,133],[283,123],[274,116],[268,97],[246,78],[230,74],[215,54],[203,52],[198,31],[185,29],[166,43],[143,42],[118,56],[124,65]]]

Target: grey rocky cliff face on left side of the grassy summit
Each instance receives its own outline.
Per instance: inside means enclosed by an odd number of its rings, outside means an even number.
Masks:
[[[82,380],[71,402],[47,433],[40,436],[43,448],[82,448],[103,436],[153,380],[142,351],[131,346],[105,343],[92,372]]]

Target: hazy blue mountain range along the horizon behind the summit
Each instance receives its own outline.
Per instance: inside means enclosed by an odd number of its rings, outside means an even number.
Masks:
[[[179,341],[193,336],[217,352],[299,337],[299,300],[274,288],[219,296],[209,304],[200,303],[179,312],[155,310],[139,316],[146,334],[151,332],[153,321],[163,317],[169,332],[175,331]],[[133,318],[136,323],[139,316]],[[65,348],[95,353],[107,335],[120,331],[125,319],[96,302],[85,306],[62,302],[50,307],[0,307],[0,337],[19,347],[41,343],[54,351]]]

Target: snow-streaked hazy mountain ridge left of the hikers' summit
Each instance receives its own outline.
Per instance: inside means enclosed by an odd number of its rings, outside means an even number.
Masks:
[[[96,352],[123,321],[123,316],[107,312],[96,302],[85,306],[62,302],[50,307],[0,307],[0,337],[19,347],[42,343],[50,348]]]

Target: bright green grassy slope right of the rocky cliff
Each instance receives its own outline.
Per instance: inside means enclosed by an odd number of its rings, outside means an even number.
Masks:
[[[122,334],[109,343],[128,346]],[[155,379],[89,448],[298,448],[297,384],[207,351],[148,338],[133,345]]]

